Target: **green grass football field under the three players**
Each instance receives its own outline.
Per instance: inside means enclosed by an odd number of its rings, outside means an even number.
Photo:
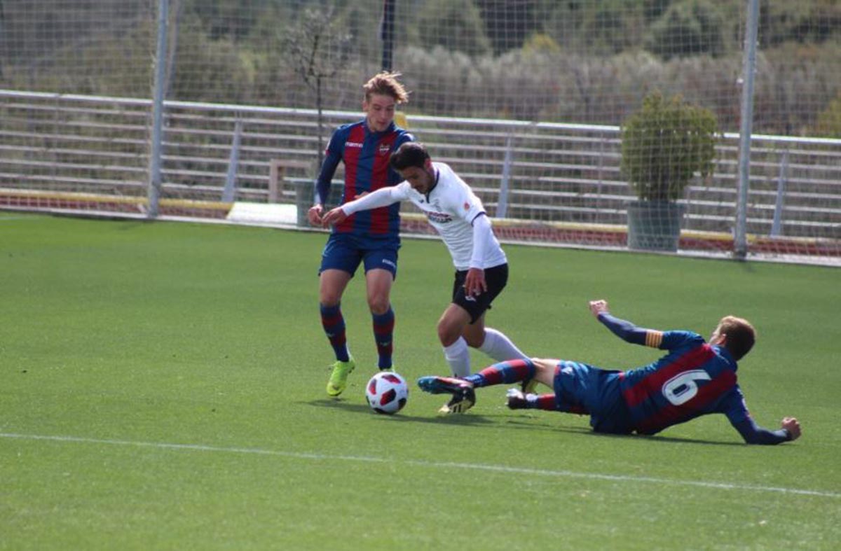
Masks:
[[[447,367],[436,320],[452,265],[407,239],[394,417],[363,388],[375,351],[362,277],[343,310],[357,359],[325,395],[324,234],[0,213],[0,548],[838,549],[841,271],[507,246],[492,327],[528,354],[633,367],[657,351],[590,316],[759,331],[739,381],[757,421],[804,436],[747,446],[723,416],[652,438],[511,412],[461,417],[414,385]],[[473,355],[475,368],[489,360]]]

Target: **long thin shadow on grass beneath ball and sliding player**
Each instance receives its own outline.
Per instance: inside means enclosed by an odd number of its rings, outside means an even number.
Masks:
[[[371,408],[366,404],[350,403],[342,398],[323,398],[319,400],[303,401],[308,406],[314,407],[330,407],[341,409],[342,412],[362,413],[367,416],[381,418],[388,422],[428,422],[436,425],[469,425],[473,427],[487,426],[493,428],[513,428],[515,430],[530,430],[530,431],[550,431],[553,433],[570,433],[570,434],[587,434],[594,438],[621,438],[628,442],[645,442],[645,443],[701,443],[715,446],[744,446],[741,442],[722,442],[716,440],[703,440],[699,438],[675,438],[669,436],[659,435],[640,435],[640,434],[608,434],[595,433],[590,427],[571,427],[558,425],[553,422],[526,422],[520,419],[539,419],[544,417],[542,415],[527,414],[525,417],[522,412],[510,414],[479,414],[474,411],[468,412],[464,415],[447,415],[447,416],[433,416],[433,417],[419,417],[407,415],[404,412],[399,412],[397,415],[381,415],[371,411]],[[546,412],[547,416],[551,416],[552,412]],[[569,417],[569,414],[566,414]],[[583,417],[583,416],[582,416]],[[559,420],[563,416],[559,417]]]

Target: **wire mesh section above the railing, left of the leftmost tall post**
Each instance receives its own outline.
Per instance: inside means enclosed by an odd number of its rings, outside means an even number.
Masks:
[[[149,97],[156,0],[5,0],[0,86]]]

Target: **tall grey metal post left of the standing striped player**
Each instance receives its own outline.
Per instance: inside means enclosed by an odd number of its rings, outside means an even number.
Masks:
[[[167,19],[169,0],[158,0],[158,36],[155,56],[155,93],[152,99],[152,131],[149,148],[148,218],[157,218],[161,197],[161,141],[163,134],[163,87],[167,76]]]

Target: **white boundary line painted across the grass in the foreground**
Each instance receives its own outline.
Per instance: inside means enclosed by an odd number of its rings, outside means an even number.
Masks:
[[[747,490],[775,492],[795,496],[817,496],[841,498],[841,493],[832,491],[799,490],[797,488],[785,488],[780,486],[759,486],[749,484],[731,484],[729,482],[705,482],[703,480],[673,480],[667,478],[655,478],[652,476],[632,475],[601,475],[598,473],[581,473],[574,470],[546,470],[529,469],[526,467],[506,467],[505,465],[480,464],[480,463],[453,463],[442,461],[415,461],[383,459],[377,457],[364,457],[355,455],[328,455],[303,452],[284,452],[272,449],[258,448],[225,448],[221,446],[209,446],[192,443],[162,443],[162,442],[140,442],[133,440],[108,440],[101,438],[82,438],[77,436],[46,436],[39,434],[16,434],[0,433],[0,438],[19,438],[21,440],[48,440],[51,442],[72,442],[72,443],[96,443],[115,446],[136,446],[140,448],[176,449],[198,452],[214,452],[223,454],[254,454],[270,455],[275,457],[287,457],[292,459],[315,459],[319,461],[358,461],[364,463],[402,463],[419,467],[431,467],[436,469],[466,469],[484,470],[497,473],[514,473],[516,475],[537,475],[554,478],[580,478],[590,480],[613,480],[617,482],[644,482],[651,484],[675,485],[675,486],[696,486],[701,488],[713,488],[719,490]]]

